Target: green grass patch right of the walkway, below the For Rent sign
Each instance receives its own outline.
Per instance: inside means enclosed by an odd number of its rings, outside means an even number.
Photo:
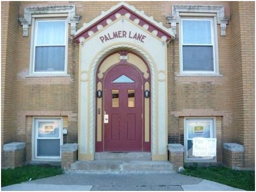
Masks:
[[[244,190],[254,191],[255,189],[254,171],[238,171],[225,167],[187,167],[182,174],[215,181]]]

